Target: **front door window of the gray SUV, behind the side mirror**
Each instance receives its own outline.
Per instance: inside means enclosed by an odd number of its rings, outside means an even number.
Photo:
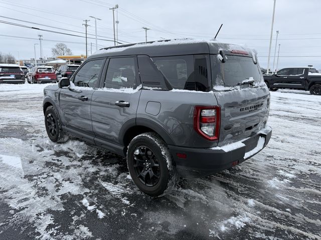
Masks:
[[[74,77],[76,86],[95,87],[99,81],[99,73],[104,59],[91,60],[86,62]]]

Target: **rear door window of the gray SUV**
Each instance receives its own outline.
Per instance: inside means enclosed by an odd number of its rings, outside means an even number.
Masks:
[[[110,58],[105,78],[106,88],[136,86],[136,57]]]

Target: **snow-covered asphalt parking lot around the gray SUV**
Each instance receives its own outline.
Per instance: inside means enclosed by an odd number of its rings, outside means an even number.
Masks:
[[[151,198],[122,157],[49,140],[45,85],[0,85],[1,239],[321,239],[320,96],[271,92],[265,149]]]

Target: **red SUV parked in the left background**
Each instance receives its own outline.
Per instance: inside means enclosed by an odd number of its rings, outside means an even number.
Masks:
[[[56,73],[51,66],[34,66],[27,75],[28,83],[57,82]]]

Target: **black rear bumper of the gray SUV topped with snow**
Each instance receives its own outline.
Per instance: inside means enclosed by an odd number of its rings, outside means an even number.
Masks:
[[[169,145],[177,170],[183,176],[206,176],[239,164],[261,151],[269,142],[272,128],[265,126],[256,134],[222,147],[192,148]],[[187,158],[179,158],[177,153]]]

